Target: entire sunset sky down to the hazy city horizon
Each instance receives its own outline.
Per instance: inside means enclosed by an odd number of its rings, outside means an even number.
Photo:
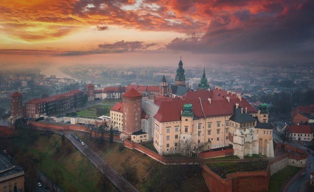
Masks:
[[[312,0],[0,1],[0,66],[314,62]]]

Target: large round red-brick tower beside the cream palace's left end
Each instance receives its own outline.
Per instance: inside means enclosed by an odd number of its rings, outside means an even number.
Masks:
[[[130,135],[141,130],[142,94],[133,87],[122,95],[123,132]]]

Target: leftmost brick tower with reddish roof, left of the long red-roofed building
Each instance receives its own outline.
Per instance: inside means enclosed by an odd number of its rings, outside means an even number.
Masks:
[[[23,95],[19,92],[15,92],[10,96],[11,99],[11,116],[8,119],[10,123],[14,123],[16,119],[24,116],[23,110]]]

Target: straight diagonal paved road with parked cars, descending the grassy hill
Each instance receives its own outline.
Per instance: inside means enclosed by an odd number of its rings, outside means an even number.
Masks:
[[[64,135],[73,145],[86,156],[95,167],[99,169],[120,191],[138,191],[125,178],[119,175],[112,169],[103,159],[101,159],[94,151],[92,151],[86,144],[83,146],[80,141],[77,141],[71,134],[74,131],[64,131]]]

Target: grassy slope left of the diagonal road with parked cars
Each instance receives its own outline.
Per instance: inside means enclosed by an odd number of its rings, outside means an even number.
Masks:
[[[58,142],[59,151],[52,147],[52,143]],[[64,191],[98,191],[101,185],[101,173],[84,157],[69,140],[61,141],[57,134],[42,135],[32,145],[25,145],[22,140],[16,140],[17,146],[30,152],[35,157],[42,156],[42,161],[36,164],[36,168],[48,178],[53,178],[53,170],[60,170],[64,182],[60,188]],[[106,190],[118,191],[113,184],[105,181]]]

